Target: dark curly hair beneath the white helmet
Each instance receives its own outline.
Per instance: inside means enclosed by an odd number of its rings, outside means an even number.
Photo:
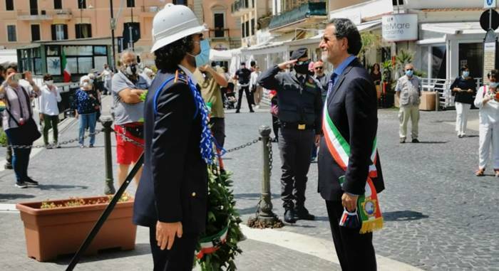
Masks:
[[[163,46],[154,52],[156,67],[163,73],[175,73],[185,54],[192,52],[193,49],[192,35]]]

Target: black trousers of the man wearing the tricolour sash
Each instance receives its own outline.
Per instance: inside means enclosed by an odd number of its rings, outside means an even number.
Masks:
[[[326,208],[341,270],[376,271],[373,234],[360,234],[360,228],[340,227],[339,220],[343,214],[341,201],[326,201]]]

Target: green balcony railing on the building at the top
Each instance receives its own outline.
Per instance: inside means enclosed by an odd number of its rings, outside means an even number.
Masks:
[[[304,18],[309,18],[310,16],[327,16],[326,2],[309,2],[290,11],[273,16],[269,23],[269,28],[274,29],[280,26],[285,26]]]

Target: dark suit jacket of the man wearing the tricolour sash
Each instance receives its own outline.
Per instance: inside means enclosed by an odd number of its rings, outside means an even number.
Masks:
[[[319,193],[327,201],[340,201],[344,191],[355,195],[364,194],[378,117],[376,88],[358,60],[346,66],[324,106],[341,135],[349,142],[350,156],[345,172],[329,154],[324,138],[321,139]],[[373,182],[376,191],[381,192],[384,183],[379,159],[376,169],[378,177]],[[343,187],[339,185],[340,176],[345,176]]]

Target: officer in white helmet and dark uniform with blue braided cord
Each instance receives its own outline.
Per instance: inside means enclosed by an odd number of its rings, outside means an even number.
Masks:
[[[212,154],[205,142],[207,110],[192,72],[207,63],[210,45],[187,6],[167,4],[153,24],[159,72],[145,100],[145,159],[133,221],[150,228],[155,271],[192,270],[205,230]]]

